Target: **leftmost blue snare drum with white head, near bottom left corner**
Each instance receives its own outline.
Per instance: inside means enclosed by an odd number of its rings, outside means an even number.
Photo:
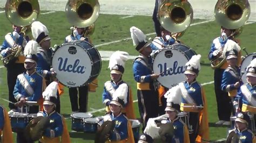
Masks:
[[[14,112],[9,115],[11,120],[11,130],[12,132],[21,132],[29,124],[29,114],[28,113],[18,113]]]

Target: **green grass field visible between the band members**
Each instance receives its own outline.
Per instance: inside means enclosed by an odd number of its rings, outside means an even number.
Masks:
[[[41,13],[44,13],[42,11]],[[145,34],[154,32],[153,22],[151,17],[147,16],[134,16],[130,18],[120,19],[124,17],[123,15],[100,15],[95,26],[95,32],[91,36],[93,45],[104,44],[105,42],[111,42],[115,40],[122,40],[125,38],[130,38],[130,27],[136,26],[140,28]],[[62,44],[66,35],[70,34],[70,24],[66,19],[64,12],[55,12],[48,15],[39,15],[38,18],[43,24],[48,27],[50,32],[50,37],[52,38],[51,45]],[[194,19],[192,23],[204,22],[204,19]],[[0,43],[2,44],[4,40],[4,35],[8,32],[11,32],[11,24],[6,19],[5,13],[0,13]],[[255,35],[256,24],[244,25],[242,33],[239,35],[241,40],[241,48],[246,47],[248,53],[256,52],[256,35]],[[204,24],[198,24],[190,26],[187,28],[186,33],[183,37],[180,38],[184,44],[190,46],[196,51],[197,54],[201,54],[201,70],[198,77],[200,83],[206,83],[213,81],[213,70],[208,64],[207,59],[208,51],[212,40],[215,37],[218,37],[220,34],[220,26],[212,21]],[[154,38],[154,35],[149,37]],[[126,51],[130,55],[138,55],[138,52],[135,50],[132,45],[132,40],[123,40],[122,42],[116,42],[114,44],[105,45],[98,47],[100,51]],[[245,52],[242,51],[243,55]],[[1,63],[2,64],[2,63]],[[89,105],[88,110],[93,111],[92,109],[101,109],[104,108],[102,104],[102,91],[104,82],[110,80],[110,70],[107,68],[109,62],[102,61],[102,70],[98,76],[99,87],[96,92],[90,92],[89,94]],[[125,73],[123,80],[131,85],[133,91],[133,99],[137,99],[136,93],[136,82],[133,79],[132,74],[132,60],[126,62]],[[208,102],[208,115],[209,115],[209,125],[210,125],[210,137],[211,140],[217,140],[220,138],[225,138],[227,134],[227,127],[218,127],[215,126],[215,121],[218,120],[217,116],[217,106],[216,99],[214,94],[214,85],[207,84],[204,85],[206,91],[207,102]],[[8,99],[8,87],[6,82],[6,69],[0,69],[0,97]],[[61,113],[65,117],[69,117],[71,113],[71,105],[69,101],[68,89],[65,88],[65,93],[60,98],[61,102]],[[8,103],[3,100],[0,100],[0,103],[5,107],[8,107]],[[138,105],[137,102],[134,103],[136,109],[136,116],[139,117]],[[92,109],[91,109],[92,108]],[[95,116],[103,115],[103,112],[94,113]],[[67,119],[66,123],[69,128],[70,137],[72,142],[93,142],[94,134],[90,133],[74,133],[71,132],[71,120]],[[14,134],[14,138],[16,134]]]

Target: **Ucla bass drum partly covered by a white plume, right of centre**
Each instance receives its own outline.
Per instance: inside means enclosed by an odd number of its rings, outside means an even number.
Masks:
[[[171,88],[185,80],[185,65],[196,52],[182,44],[174,44],[160,49],[154,55],[153,71],[160,74],[158,82],[166,88]]]

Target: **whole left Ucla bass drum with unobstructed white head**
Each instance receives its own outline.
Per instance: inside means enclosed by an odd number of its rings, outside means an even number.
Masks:
[[[69,88],[80,87],[91,83],[99,75],[102,59],[92,44],[75,40],[57,47],[52,68],[60,83]]]

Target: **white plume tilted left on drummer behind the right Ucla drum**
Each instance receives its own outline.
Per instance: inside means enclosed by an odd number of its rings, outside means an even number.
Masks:
[[[137,46],[139,42],[146,42],[146,35],[137,27],[132,26],[130,28],[133,46]]]

